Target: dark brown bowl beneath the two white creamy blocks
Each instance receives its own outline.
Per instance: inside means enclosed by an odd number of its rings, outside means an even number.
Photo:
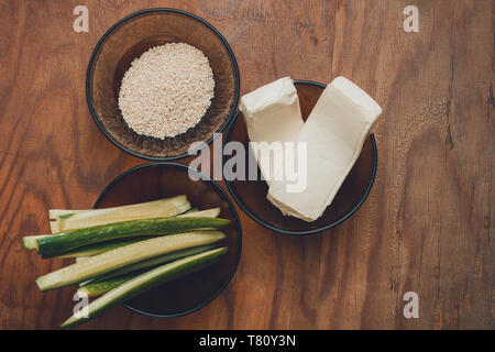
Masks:
[[[306,121],[326,86],[314,81],[295,81],[295,84],[302,118]],[[246,150],[250,150],[248,130],[241,112],[238,112],[232,119],[226,132],[223,145],[230,141],[239,141]],[[246,157],[246,165],[248,160]],[[268,186],[264,180],[248,180],[249,177],[245,175],[246,180],[229,182],[226,179],[226,184],[239,207],[262,226],[287,234],[309,234],[338,226],[361,207],[373,186],[376,164],[376,143],[371,134],[332,204],[321,218],[314,222],[283,216],[280,210],[266,199]],[[245,169],[248,172],[248,167]],[[261,175],[260,169],[257,173]]]

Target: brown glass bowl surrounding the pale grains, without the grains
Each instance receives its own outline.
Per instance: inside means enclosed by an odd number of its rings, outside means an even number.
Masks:
[[[123,75],[151,47],[178,42],[196,46],[208,57],[215,98],[201,121],[185,133],[163,140],[140,135],[128,127],[118,107]],[[235,111],[239,85],[232,50],[211,24],[184,11],[150,9],[120,20],[100,38],[89,61],[86,96],[92,118],[111,142],[135,156],[164,161],[185,157],[194,142],[206,145],[223,131]]]

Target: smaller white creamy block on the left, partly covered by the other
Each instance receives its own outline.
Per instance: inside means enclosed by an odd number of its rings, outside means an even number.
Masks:
[[[284,77],[242,96],[239,110],[263,178],[268,186],[274,179],[283,179],[284,157],[275,157],[275,144],[279,143],[284,153],[284,142],[296,142],[304,127],[294,80]]]

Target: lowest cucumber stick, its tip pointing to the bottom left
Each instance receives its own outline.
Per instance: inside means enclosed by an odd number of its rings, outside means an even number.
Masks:
[[[143,273],[134,278],[131,278],[117,288],[111,289],[103,296],[95,299],[85,309],[87,316],[84,314],[76,314],[67,319],[62,327],[67,328],[90,318],[94,318],[112,307],[113,305],[128,301],[129,299],[142,294],[145,290],[160,286],[168,280],[180,277],[183,275],[196,272],[207,265],[215,263],[222,255],[227,253],[227,248],[204,252],[193,256],[188,256],[175,262],[158,266],[150,272]]]

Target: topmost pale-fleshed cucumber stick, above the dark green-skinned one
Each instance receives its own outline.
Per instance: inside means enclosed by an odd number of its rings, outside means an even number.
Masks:
[[[175,217],[189,209],[190,204],[183,195],[123,207],[59,215],[56,220],[58,231],[63,232],[127,220]]]

